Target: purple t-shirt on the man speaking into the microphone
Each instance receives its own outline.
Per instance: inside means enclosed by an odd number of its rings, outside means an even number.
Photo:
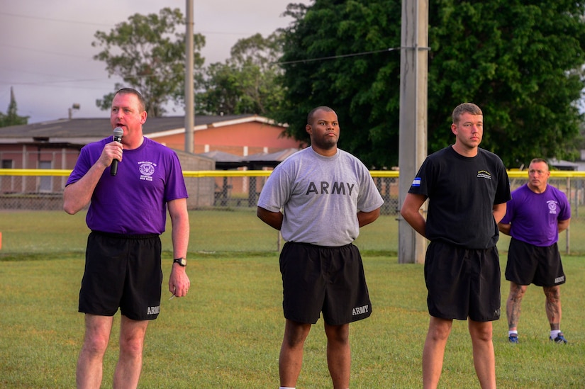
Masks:
[[[82,148],[67,185],[87,173],[111,140],[107,137]],[[179,157],[145,137],[138,149],[124,150],[116,176],[109,168],[104,170],[91,196],[87,227],[116,234],[162,234],[167,202],[177,198],[187,198]]]

